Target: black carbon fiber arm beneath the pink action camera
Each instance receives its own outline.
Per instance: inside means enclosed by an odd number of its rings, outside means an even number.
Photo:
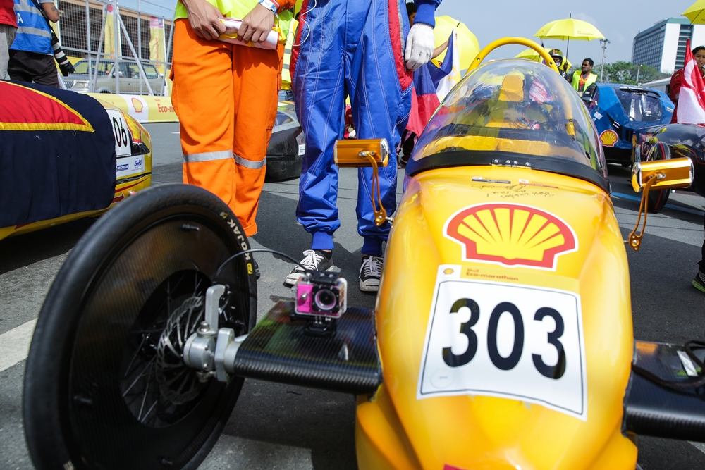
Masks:
[[[372,310],[349,308],[330,338],[305,335],[305,322],[290,321],[291,311],[293,302],[278,302],[257,323],[235,356],[235,374],[355,395],[377,390],[382,369]]]

